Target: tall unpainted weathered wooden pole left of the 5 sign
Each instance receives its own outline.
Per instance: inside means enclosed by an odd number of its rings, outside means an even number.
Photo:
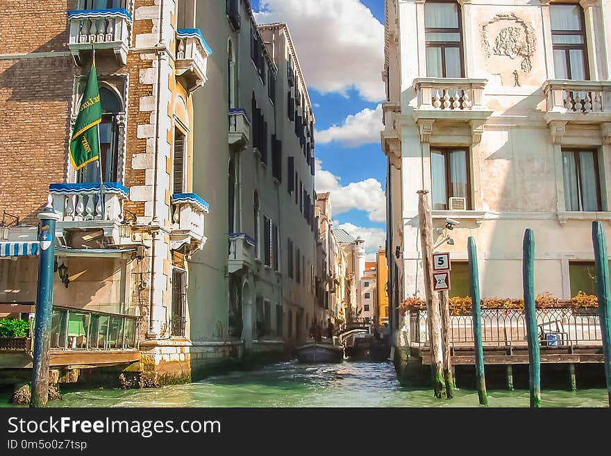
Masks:
[[[446,388],[443,370],[439,295],[433,292],[433,217],[430,213],[428,190],[419,190],[418,196],[420,244],[422,246],[422,266],[424,269],[428,337],[430,339],[430,367],[433,375],[435,396],[440,398]]]

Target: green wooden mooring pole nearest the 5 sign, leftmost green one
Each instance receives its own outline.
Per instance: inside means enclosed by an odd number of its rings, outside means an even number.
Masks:
[[[484,369],[484,347],[482,344],[482,305],[480,298],[480,278],[477,261],[477,247],[473,236],[467,241],[469,253],[470,279],[469,291],[471,293],[471,315],[473,316],[473,341],[475,348],[475,375],[478,396],[481,405],[488,405],[486,394],[486,374]]]

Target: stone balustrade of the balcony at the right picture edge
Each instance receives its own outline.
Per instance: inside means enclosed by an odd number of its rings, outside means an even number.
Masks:
[[[611,113],[611,81],[551,79],[543,90],[548,112]]]

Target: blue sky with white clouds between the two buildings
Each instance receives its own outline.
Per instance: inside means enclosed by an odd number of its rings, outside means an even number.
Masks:
[[[385,237],[386,159],[379,140],[384,0],[251,5],[260,24],[286,22],[291,31],[316,117],[317,191],[331,192],[333,219],[365,238],[371,258]]]

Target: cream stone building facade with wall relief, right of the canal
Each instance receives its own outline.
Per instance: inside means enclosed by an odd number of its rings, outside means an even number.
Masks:
[[[390,321],[424,296],[419,189],[450,234],[451,296],[467,296],[467,237],[483,297],[519,298],[535,230],[535,292],[592,293],[591,223],[611,220],[611,4],[387,0]],[[446,218],[460,222],[449,231]]]

